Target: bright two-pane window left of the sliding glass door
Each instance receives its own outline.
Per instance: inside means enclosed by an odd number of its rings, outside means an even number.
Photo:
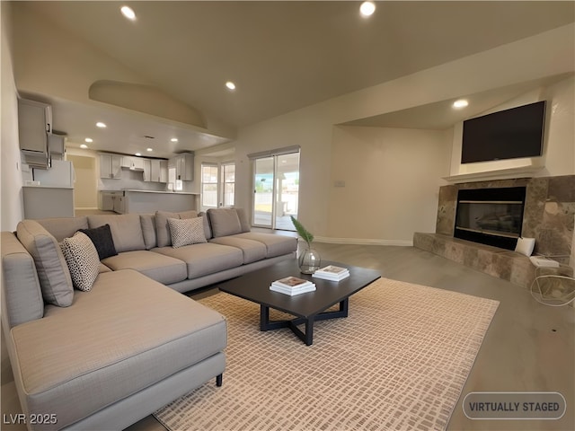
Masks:
[[[233,207],[235,164],[201,163],[201,207]]]

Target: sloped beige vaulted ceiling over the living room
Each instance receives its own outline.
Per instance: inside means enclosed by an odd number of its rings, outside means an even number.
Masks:
[[[42,17],[76,43],[135,71],[198,110],[208,124],[230,128],[575,21],[574,2],[547,1],[385,1],[376,2],[376,13],[368,18],[358,13],[359,2],[348,1],[129,2],[134,22],[119,13],[121,5],[14,2],[13,8],[21,16]],[[21,72],[16,67],[17,84]],[[113,79],[112,71],[101,79]],[[236,89],[228,90],[226,81]],[[60,128],[80,139],[86,133],[76,126],[81,107],[59,102],[62,117],[68,117]],[[223,142],[212,137],[203,145]]]

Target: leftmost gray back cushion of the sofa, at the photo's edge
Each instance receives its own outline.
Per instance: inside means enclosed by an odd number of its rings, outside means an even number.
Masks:
[[[44,299],[34,259],[11,232],[3,232],[2,324],[13,328],[44,315]]]

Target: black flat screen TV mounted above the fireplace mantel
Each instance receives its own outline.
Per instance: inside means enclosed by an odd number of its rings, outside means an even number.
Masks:
[[[543,154],[545,101],[464,121],[461,163]]]

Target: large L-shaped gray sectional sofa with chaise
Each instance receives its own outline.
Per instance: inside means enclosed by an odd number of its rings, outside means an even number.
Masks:
[[[79,230],[94,247],[70,260],[62,244]],[[181,293],[294,259],[297,242],[217,209],[24,220],[1,245],[2,324],[29,429],[122,429],[221,384],[226,319]]]

